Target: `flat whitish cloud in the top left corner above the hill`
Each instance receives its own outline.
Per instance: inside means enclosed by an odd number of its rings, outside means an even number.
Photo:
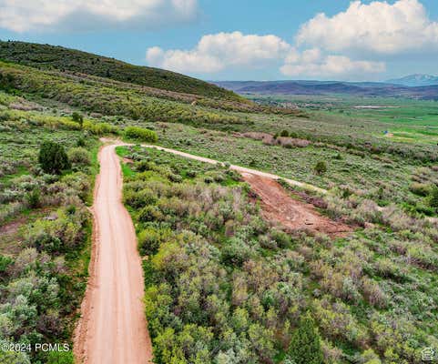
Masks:
[[[193,20],[197,0],[0,0],[0,27],[15,32],[150,28]]]

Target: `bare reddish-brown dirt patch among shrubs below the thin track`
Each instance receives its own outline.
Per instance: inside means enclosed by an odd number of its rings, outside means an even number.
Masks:
[[[280,184],[268,177],[242,173],[243,179],[260,197],[262,215],[291,231],[308,230],[333,237],[345,236],[351,227],[322,216],[313,205],[294,199]]]

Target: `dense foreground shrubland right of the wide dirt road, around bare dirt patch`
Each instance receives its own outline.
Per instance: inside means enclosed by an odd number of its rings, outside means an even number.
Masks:
[[[432,224],[338,190],[325,213],[368,227],[334,241],[288,233],[262,218],[225,166],[118,153],[135,160],[124,197],[145,257],[157,363],[420,364],[438,343]],[[305,344],[316,351],[295,342],[307,315]]]

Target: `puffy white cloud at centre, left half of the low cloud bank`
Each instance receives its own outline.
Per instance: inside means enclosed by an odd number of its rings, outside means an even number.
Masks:
[[[290,45],[276,35],[243,35],[240,32],[204,35],[190,50],[148,48],[150,66],[178,72],[215,73],[227,67],[262,67],[278,62]]]

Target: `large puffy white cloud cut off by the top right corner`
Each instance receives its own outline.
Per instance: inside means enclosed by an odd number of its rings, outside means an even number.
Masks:
[[[438,23],[429,19],[418,0],[393,4],[351,2],[342,13],[319,14],[300,27],[298,45],[320,46],[331,51],[372,51],[396,54],[438,47]]]

